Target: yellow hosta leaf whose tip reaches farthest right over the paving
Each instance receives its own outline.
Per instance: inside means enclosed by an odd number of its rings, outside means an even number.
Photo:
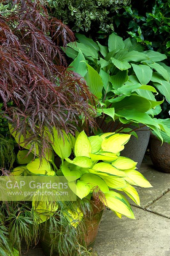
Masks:
[[[128,169],[124,171],[126,175],[135,182],[137,186],[143,187],[143,188],[151,188],[152,185],[149,183],[148,180],[142,175],[142,173],[133,170]]]

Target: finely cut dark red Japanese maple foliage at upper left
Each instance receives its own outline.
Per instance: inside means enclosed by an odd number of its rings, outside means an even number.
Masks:
[[[73,131],[80,115],[93,124],[93,96],[80,76],[61,66],[66,60],[59,46],[74,40],[72,31],[49,19],[40,1],[13,4],[14,10],[0,14],[0,96],[15,130],[24,137],[29,131],[26,143],[38,142],[43,152],[48,142],[39,135],[45,127]]]

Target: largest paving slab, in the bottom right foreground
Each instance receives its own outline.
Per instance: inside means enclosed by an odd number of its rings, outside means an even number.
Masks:
[[[170,219],[133,211],[136,220],[105,210],[94,247],[98,256],[170,256]]]

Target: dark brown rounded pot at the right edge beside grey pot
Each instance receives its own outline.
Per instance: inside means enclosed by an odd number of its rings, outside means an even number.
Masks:
[[[153,134],[150,136],[149,152],[155,168],[160,172],[170,173],[170,144],[161,141]]]

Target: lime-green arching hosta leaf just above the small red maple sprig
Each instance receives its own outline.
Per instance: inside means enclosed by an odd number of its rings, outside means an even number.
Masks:
[[[88,186],[91,189],[91,193],[93,192],[93,189],[96,187],[99,187],[103,193],[109,192],[109,188],[106,185],[105,181],[95,174],[85,173],[84,175],[81,176],[80,180],[88,184]]]

